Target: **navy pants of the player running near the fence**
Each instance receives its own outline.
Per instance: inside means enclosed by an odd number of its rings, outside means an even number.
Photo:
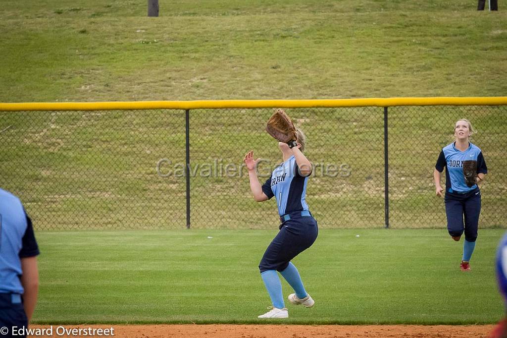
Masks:
[[[463,194],[446,191],[445,211],[447,230],[451,236],[461,236],[464,231],[465,239],[468,242],[477,240],[479,215],[481,214],[481,191],[479,188]]]

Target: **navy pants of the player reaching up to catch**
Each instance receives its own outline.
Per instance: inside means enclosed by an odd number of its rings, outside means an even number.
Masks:
[[[285,270],[291,259],[308,249],[317,239],[317,221],[312,216],[301,216],[300,211],[288,215],[291,219],[280,224],[280,231],[261,259],[261,273]]]

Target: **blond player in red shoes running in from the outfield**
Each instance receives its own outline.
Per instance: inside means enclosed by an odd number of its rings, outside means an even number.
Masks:
[[[436,194],[442,197],[442,171],[446,168],[445,210],[447,229],[454,241],[459,241],[463,232],[463,257],[460,268],[470,271],[470,258],[474,253],[481,213],[481,191],[477,183],[488,173],[486,161],[481,149],[468,140],[474,133],[472,124],[467,119],[458,120],[454,126],[455,141],[440,152],[433,173]],[[476,179],[466,184],[463,175],[463,161],[477,161]],[[464,218],[464,222],[463,222]]]

